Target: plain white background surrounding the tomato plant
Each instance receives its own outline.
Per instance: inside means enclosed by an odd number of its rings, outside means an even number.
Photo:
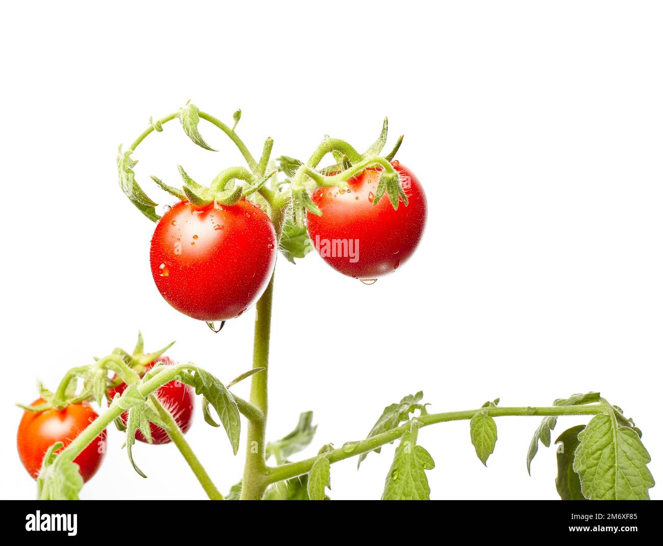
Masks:
[[[655,2],[6,3],[3,86],[3,498],[31,498],[13,438],[41,378],[142,329],[148,349],[222,380],[251,365],[253,313],[218,335],[178,314],[149,270],[152,225],[117,184],[117,144],[192,99],[255,154],[306,157],[329,133],[366,148],[389,115],[430,216],[420,249],[374,286],[315,254],[278,260],[269,437],[314,410],[313,445],[363,438],[423,389],[431,411],[550,405],[600,390],[644,431],[663,480],[662,9]],[[139,148],[137,176],[200,182],[241,164],[178,122]],[[248,394],[248,384],[237,387]],[[243,455],[199,412],[188,439],[223,492]],[[561,419],[555,433],[583,422]],[[428,427],[432,498],[556,498],[554,449],[525,469],[538,417],[498,421],[484,468],[467,422]],[[556,435],[554,436],[556,437]],[[143,480],[110,431],[83,498],[202,498],[172,445],[138,445]],[[242,441],[242,449],[244,447]],[[393,447],[335,464],[331,496],[379,498]],[[652,498],[662,498],[660,488]]]

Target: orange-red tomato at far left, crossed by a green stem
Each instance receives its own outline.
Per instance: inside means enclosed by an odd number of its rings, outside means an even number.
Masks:
[[[43,403],[44,400],[40,398],[30,405],[38,406]],[[19,423],[17,446],[21,463],[30,476],[37,478],[49,447],[56,442],[62,442],[64,449],[96,418],[97,413],[88,402],[70,404],[63,410],[51,409],[39,413],[25,411]],[[105,453],[106,431],[104,430],[74,459],[85,482],[97,472]]]

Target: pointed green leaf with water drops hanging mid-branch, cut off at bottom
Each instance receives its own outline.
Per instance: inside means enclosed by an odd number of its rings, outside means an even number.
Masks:
[[[389,474],[385,480],[382,500],[430,500],[426,470],[435,462],[420,445],[416,445],[418,425],[412,421],[410,430],[400,439]]]

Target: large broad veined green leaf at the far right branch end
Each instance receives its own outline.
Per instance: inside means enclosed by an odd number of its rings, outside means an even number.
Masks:
[[[589,500],[649,500],[651,457],[638,433],[617,423],[613,411],[595,415],[579,433],[573,470]]]

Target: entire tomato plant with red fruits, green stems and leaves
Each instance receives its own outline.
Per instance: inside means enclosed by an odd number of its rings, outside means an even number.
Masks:
[[[558,438],[568,447],[558,451],[556,486],[560,498],[649,498],[654,480],[647,467],[650,457],[640,440],[640,429],[619,406],[597,392],[573,394],[555,400],[551,406],[499,406],[498,398],[469,410],[438,413],[429,413],[430,404],[424,403],[423,392],[417,392],[378,413],[365,439],[347,441],[341,447],[326,443],[308,459],[294,461],[292,456],[313,441],[316,426],[310,411],[300,415],[291,433],[268,442],[267,369],[276,248],[295,262],[314,245],[339,272],[364,281],[375,279],[400,270],[410,258],[422,239],[427,203],[414,173],[394,160],[402,136],[390,152],[381,155],[387,142],[386,119],[379,137],[365,152],[357,151],[345,140],[326,136],[305,162],[290,156],[280,156],[274,162],[271,138],[265,140],[261,156],[251,154],[235,131],[240,118],[241,112],[235,112],[231,127],[187,103],[180,111],[151,121],[127,150],[120,150],[117,164],[122,190],[145,217],[156,223],[151,246],[152,276],[170,305],[209,324],[241,315],[257,300],[253,367],[224,383],[198,364],[176,364],[162,356],[170,345],[144,353],[143,337],[139,335],[131,354],[115,349],[91,364],[72,368],[54,394],[42,390],[42,403],[25,408],[31,413],[26,413],[27,424],[22,421],[19,429],[19,451],[28,453],[21,438],[29,447],[29,423],[48,420],[60,415],[58,411],[88,408],[86,404],[91,400],[101,405],[106,397],[109,404],[82,431],[77,429],[73,440],[66,432],[56,435],[67,443],[62,451],[53,453],[54,447],[48,445],[54,438],[50,438],[39,447],[38,455],[29,459],[33,475],[41,465],[39,498],[78,498],[83,481],[73,463],[90,449],[95,438],[103,435],[109,423],[115,422],[126,431],[126,452],[141,476],[147,477],[133,459],[135,441],[163,443],[170,439],[209,498],[223,499],[184,438],[191,422],[194,392],[201,397],[204,421],[225,431],[235,455],[241,417],[249,423],[243,475],[237,476],[226,499],[325,500],[329,498],[331,464],[351,457],[358,457],[360,464],[369,453],[379,453],[396,441],[382,498],[428,499],[427,472],[435,462],[420,445],[418,431],[438,423],[468,421],[469,439],[477,459],[485,465],[497,445],[495,419],[507,415],[542,417],[528,447],[528,471],[539,445],[550,445],[558,416],[587,420]],[[181,189],[153,176],[162,190],[178,199],[160,217],[157,203],[135,180],[133,153],[148,135],[160,133],[163,125],[174,119],[179,119],[186,135],[206,150],[212,148],[200,135],[198,124],[206,120],[215,125],[237,146],[247,167],[226,168],[209,186],[198,184],[180,167]],[[321,167],[328,156],[331,163]],[[324,241],[334,245],[330,248],[336,249],[335,254],[323,250],[327,244]],[[343,241],[347,256],[343,255]],[[352,251],[350,241],[358,242]],[[292,294],[290,301],[302,307],[308,303],[301,294]],[[306,324],[288,325],[286,330],[292,337],[306,335]],[[230,388],[247,378],[251,379],[251,394],[249,400],[243,400]],[[44,456],[46,448],[49,451]]]

